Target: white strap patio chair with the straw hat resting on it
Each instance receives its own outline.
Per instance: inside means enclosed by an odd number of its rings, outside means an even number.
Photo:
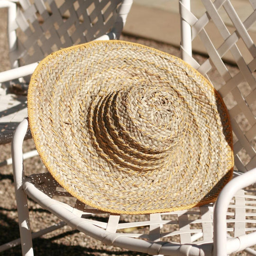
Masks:
[[[21,122],[14,135],[13,167],[17,194],[18,216],[24,255],[32,255],[31,231],[27,212],[27,195],[37,201],[74,229],[107,245],[122,247],[149,255],[215,255],[224,256],[246,250],[256,255],[255,189],[255,66],[256,46],[247,30],[255,22],[256,4],[250,1],[252,10],[247,18],[238,17],[229,0],[202,0],[207,10],[201,18],[190,11],[190,1],[180,0],[182,19],[183,59],[207,75],[213,69],[223,81],[217,84],[220,95],[226,101],[234,136],[235,174],[220,192],[217,202],[189,210],[143,215],[111,214],[86,207],[77,201],[73,206],[53,199],[57,185],[50,174],[37,174],[24,178],[22,166],[22,140],[26,134],[27,119]],[[230,32],[219,11],[225,11],[234,29]],[[212,22],[212,23],[211,23]],[[211,41],[215,36],[212,25],[219,30],[223,43],[217,46]],[[210,32],[207,31],[210,26]],[[206,26],[206,27],[205,27]],[[198,64],[191,54],[191,41],[199,36],[208,51],[209,58]],[[240,39],[240,40],[239,40]],[[249,60],[239,51],[237,43],[243,43]],[[239,72],[232,74],[222,57],[230,51]],[[216,71],[217,70],[217,71]],[[244,89],[247,88],[246,91]],[[232,97],[229,101],[228,96]],[[231,104],[230,104],[231,103]],[[241,122],[242,119],[242,122]],[[66,120],[66,125],[71,124]],[[245,125],[246,124],[246,125]],[[47,164],[47,163],[46,163]],[[63,193],[64,194],[64,193]],[[98,221],[87,214],[104,214],[107,221]]]

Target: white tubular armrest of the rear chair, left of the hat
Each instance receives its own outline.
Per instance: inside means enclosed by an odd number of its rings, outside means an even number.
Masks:
[[[0,82],[6,82],[11,79],[17,79],[19,77],[24,77],[26,75],[30,75],[34,72],[38,65],[38,62],[28,64],[22,67],[10,69],[7,71],[3,71],[0,73]]]

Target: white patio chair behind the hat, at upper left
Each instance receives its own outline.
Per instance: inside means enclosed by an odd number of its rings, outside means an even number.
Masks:
[[[131,1],[1,0],[8,8],[11,70],[0,73],[0,144],[11,142],[27,116],[27,85],[38,62],[51,52],[96,38],[118,39]],[[26,139],[31,138],[28,130]],[[36,155],[36,150],[24,158]],[[11,164],[7,159],[0,165]]]

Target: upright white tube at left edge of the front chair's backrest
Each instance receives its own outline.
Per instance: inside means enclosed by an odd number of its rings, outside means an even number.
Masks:
[[[190,0],[180,0],[180,4],[182,4],[186,9],[190,10]],[[181,10],[180,10],[181,12]],[[190,25],[182,18],[181,15],[181,46],[183,50],[189,55],[192,56],[192,37],[191,37],[191,27]],[[183,55],[183,51],[181,51],[181,57],[184,61],[186,61],[186,56]]]

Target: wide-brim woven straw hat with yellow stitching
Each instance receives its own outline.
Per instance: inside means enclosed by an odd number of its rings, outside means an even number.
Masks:
[[[228,111],[181,59],[95,41],[38,64],[28,89],[37,151],[64,189],[112,213],[188,209],[216,200],[233,172]]]

